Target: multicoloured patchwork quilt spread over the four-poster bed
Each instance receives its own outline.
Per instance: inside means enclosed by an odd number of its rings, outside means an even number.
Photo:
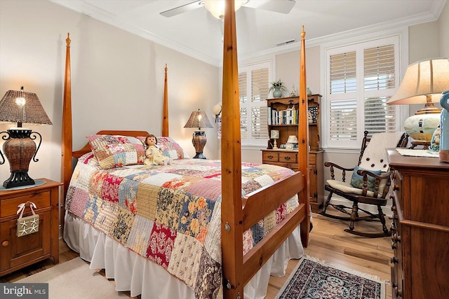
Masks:
[[[242,196],[292,174],[243,163]],[[74,169],[65,208],[184,281],[196,298],[215,298],[222,284],[220,179],[218,160],[101,169],[88,153]],[[297,205],[293,197],[244,232],[243,253]]]

